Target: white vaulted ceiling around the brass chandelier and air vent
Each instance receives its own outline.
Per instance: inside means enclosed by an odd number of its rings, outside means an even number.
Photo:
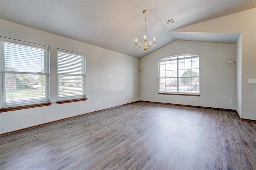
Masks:
[[[256,0],[0,0],[0,18],[140,58],[175,40],[236,43],[239,34],[170,31],[254,7]],[[144,9],[148,41],[157,42],[146,53],[134,45]]]

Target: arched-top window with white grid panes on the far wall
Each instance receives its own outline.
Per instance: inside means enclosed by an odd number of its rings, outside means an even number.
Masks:
[[[158,64],[160,93],[199,94],[198,55],[174,55]]]

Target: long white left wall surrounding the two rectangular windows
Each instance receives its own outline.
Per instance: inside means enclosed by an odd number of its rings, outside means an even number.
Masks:
[[[50,46],[52,102],[51,106],[0,113],[0,134],[139,100],[138,58],[6,20],[0,20],[0,36]],[[86,53],[87,101],[56,105],[57,48]]]

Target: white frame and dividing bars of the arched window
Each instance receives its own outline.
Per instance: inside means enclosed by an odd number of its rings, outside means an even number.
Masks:
[[[187,56],[187,55],[190,55],[190,57],[182,57],[182,58],[179,58],[179,56]],[[174,59],[172,59],[173,57],[176,57]],[[182,77],[179,77],[179,68],[178,68],[178,60],[181,60],[181,59],[191,59],[191,58],[196,58],[198,57],[199,59],[199,55],[195,55],[195,54],[179,54],[179,55],[172,55],[172,56],[169,56],[169,57],[165,57],[163,59],[160,59],[158,61],[158,94],[159,95],[183,95],[183,96],[200,96],[200,59],[198,61],[198,69],[199,69],[199,72],[198,72],[198,79],[199,79],[199,92],[198,93],[191,93],[191,92],[166,92],[166,91],[160,91],[160,80],[161,78],[176,78],[177,79],[177,82],[178,82],[178,79],[179,78],[182,78]],[[168,59],[169,58],[169,59]],[[160,76],[160,63],[161,62],[166,62],[166,61],[177,61],[177,77],[161,77]],[[194,77],[194,76],[193,76]],[[186,78],[189,78],[189,77],[186,77]],[[178,89],[178,83],[177,83],[177,89]]]

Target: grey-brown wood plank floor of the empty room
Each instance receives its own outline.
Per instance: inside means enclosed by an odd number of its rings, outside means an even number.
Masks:
[[[256,123],[138,102],[0,138],[0,169],[256,170]]]

